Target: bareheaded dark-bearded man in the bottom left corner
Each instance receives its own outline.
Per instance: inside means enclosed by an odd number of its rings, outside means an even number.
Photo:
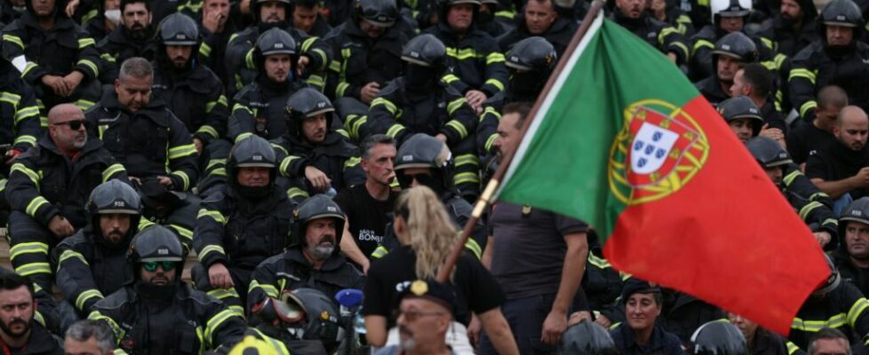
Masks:
[[[34,286],[23,276],[0,276],[0,345],[6,354],[60,355],[63,345],[39,322]]]

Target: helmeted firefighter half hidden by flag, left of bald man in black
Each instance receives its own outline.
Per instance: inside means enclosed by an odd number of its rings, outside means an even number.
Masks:
[[[834,250],[838,244],[839,227],[833,215],[830,196],[821,192],[802,174],[791,160],[785,147],[766,137],[750,139],[745,146],[767,176],[775,184],[803,222],[809,225],[821,247]]]

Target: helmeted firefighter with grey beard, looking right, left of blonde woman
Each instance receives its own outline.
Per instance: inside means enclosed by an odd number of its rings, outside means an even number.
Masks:
[[[253,272],[248,310],[267,297],[280,298],[283,290],[315,288],[333,298],[344,288],[362,289],[362,272],[339,253],[344,212],[325,194],[317,194],[293,211],[293,245],[272,256]]]

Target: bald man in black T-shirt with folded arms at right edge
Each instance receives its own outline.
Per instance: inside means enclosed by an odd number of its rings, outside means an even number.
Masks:
[[[869,195],[867,134],[869,117],[863,109],[845,106],[833,123],[836,140],[809,156],[806,162],[806,176],[836,200],[836,206]],[[835,212],[838,215],[838,209]]]

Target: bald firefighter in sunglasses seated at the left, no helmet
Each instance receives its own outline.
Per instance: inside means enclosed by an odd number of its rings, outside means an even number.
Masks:
[[[52,107],[47,134],[19,155],[6,185],[12,266],[44,289],[52,289],[51,248],[87,224],[91,190],[110,178],[127,181],[102,141],[88,137],[85,122],[74,105]]]

